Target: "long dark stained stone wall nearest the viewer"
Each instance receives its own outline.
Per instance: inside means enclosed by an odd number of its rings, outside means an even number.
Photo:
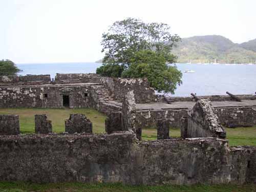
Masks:
[[[255,182],[255,152],[218,138],[138,142],[131,132],[0,136],[0,180],[243,184]]]

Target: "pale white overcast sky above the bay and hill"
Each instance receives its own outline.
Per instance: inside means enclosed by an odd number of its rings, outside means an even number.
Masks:
[[[0,59],[94,62],[101,35],[127,17],[161,22],[180,37],[256,38],[255,0],[0,0]]]

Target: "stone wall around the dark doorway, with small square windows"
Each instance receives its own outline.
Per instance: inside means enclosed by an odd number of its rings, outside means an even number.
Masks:
[[[70,108],[89,107],[89,86],[0,87],[0,108],[62,108],[63,95]]]

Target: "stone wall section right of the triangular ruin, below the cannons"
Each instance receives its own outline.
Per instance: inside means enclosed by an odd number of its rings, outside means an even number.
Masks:
[[[215,108],[221,124],[227,127],[256,125],[256,106]]]

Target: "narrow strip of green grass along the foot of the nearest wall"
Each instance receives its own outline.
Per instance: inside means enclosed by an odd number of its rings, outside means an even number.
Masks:
[[[182,192],[242,192],[242,191],[255,191],[256,185],[159,185],[159,186],[131,186],[116,184],[83,184],[83,183],[57,183],[57,184],[33,184],[25,182],[0,182],[0,191],[2,192],[25,192],[25,191],[97,191],[97,192],[132,192],[132,191],[182,191]]]

